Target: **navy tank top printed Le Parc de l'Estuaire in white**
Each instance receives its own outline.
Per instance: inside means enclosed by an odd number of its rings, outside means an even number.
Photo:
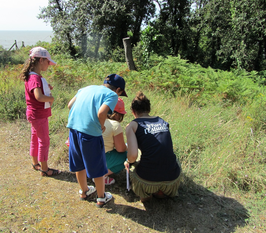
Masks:
[[[136,138],[141,157],[136,173],[148,181],[172,181],[180,175],[173,151],[169,123],[160,117],[136,118]]]

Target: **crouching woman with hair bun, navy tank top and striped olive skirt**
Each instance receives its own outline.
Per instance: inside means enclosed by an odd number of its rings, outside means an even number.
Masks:
[[[135,117],[126,127],[127,161],[131,188],[140,201],[175,197],[180,185],[181,165],[174,154],[169,124],[150,116],[149,99],[139,91],[131,103]],[[138,149],[141,156],[138,161]]]

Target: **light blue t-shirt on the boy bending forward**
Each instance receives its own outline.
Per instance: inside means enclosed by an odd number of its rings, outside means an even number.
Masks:
[[[118,95],[105,86],[86,86],[78,90],[77,98],[68,116],[66,127],[72,128],[92,136],[101,136],[101,124],[98,119],[98,110],[105,104],[112,114],[118,101]]]

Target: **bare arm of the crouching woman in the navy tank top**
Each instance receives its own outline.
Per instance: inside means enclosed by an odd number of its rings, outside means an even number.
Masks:
[[[127,136],[127,159],[129,163],[134,163],[138,158],[138,142],[135,135],[138,123],[131,121],[126,126]]]

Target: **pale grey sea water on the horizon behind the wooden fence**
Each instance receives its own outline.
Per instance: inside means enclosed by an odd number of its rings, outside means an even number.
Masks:
[[[10,49],[15,43],[19,48],[22,46],[22,41],[24,45],[34,45],[39,40],[51,42],[53,38],[52,31],[0,31],[0,46],[2,45],[4,49]],[[13,49],[16,49],[15,46]]]

